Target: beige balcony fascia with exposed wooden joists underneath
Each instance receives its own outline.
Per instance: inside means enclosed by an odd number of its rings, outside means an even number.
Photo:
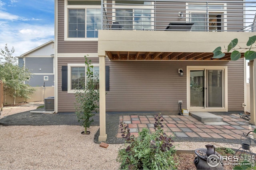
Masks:
[[[154,61],[229,61],[226,53],[230,41],[238,38],[238,45],[247,47],[252,32],[192,32],[192,31],[128,31],[99,30],[98,55],[110,60]],[[225,57],[212,59],[212,51],[222,47]],[[241,53],[244,49],[237,49]],[[232,52],[232,51],[231,51]],[[242,57],[244,54],[242,53]]]

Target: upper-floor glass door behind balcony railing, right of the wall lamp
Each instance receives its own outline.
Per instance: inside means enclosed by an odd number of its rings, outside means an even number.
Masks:
[[[226,4],[187,3],[186,10],[192,31],[226,30]]]

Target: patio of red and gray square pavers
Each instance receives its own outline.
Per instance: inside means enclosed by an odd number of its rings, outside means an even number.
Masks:
[[[193,141],[230,141],[235,142],[241,139],[243,133],[253,131],[255,125],[250,125],[247,120],[240,118],[238,114],[222,115],[223,121],[228,125],[206,125],[191,116],[184,115],[163,115],[163,130],[174,139]],[[142,128],[154,131],[153,115],[121,115],[119,121],[128,124],[130,132],[138,136]],[[252,133],[250,133],[252,135]],[[121,138],[120,128],[117,137]],[[244,139],[244,138],[242,138]]]

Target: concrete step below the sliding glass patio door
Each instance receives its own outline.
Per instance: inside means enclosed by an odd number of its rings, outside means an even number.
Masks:
[[[223,122],[223,117],[209,112],[190,112],[191,116],[201,122]]]

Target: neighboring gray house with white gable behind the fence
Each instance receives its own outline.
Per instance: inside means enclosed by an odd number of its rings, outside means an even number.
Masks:
[[[18,57],[19,66],[33,74],[28,84],[32,87],[54,86],[54,41],[51,40]]]

